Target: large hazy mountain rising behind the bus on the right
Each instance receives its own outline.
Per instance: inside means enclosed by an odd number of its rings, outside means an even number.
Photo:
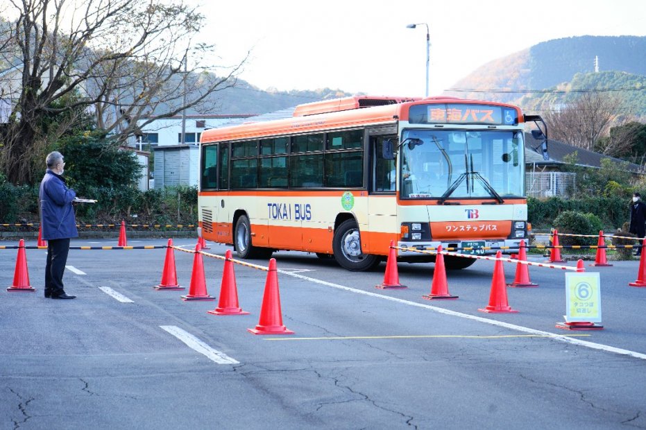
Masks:
[[[595,56],[602,72],[624,74],[596,74]],[[566,89],[611,87],[607,85],[642,85],[646,76],[646,37],[640,36],[580,36],[541,42],[523,51],[486,63],[453,85],[461,91],[445,95],[463,98],[519,103],[525,95],[513,90]],[[577,85],[601,85],[580,87]],[[477,89],[478,91],[464,91]],[[508,92],[484,92],[486,89]],[[643,93],[643,90],[631,90]],[[616,94],[624,96],[624,93]],[[643,98],[636,97],[643,100]],[[636,100],[638,101],[638,100]],[[635,105],[646,110],[646,105]],[[646,112],[644,112],[646,114]]]

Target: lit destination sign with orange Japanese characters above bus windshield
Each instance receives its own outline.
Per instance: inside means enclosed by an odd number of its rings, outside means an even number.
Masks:
[[[515,126],[518,124],[518,113],[515,109],[496,105],[464,103],[414,105],[409,111],[409,122]]]

